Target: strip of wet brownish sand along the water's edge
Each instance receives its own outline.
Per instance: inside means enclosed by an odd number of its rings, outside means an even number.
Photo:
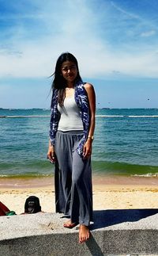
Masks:
[[[155,177],[125,177],[92,175],[92,184],[95,185],[148,185],[158,187],[158,178]],[[55,177],[29,177],[29,178],[0,178],[0,189],[32,189],[42,187],[54,187]]]

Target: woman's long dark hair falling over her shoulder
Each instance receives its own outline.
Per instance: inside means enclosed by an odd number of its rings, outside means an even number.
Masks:
[[[57,59],[57,63],[55,66],[54,80],[52,82],[51,88],[52,90],[58,89],[58,103],[60,106],[63,105],[63,101],[66,97],[66,79],[62,77],[62,63],[65,61],[73,62],[77,67],[77,77],[75,78],[74,84],[77,82],[82,82],[79,70],[77,59],[70,52],[64,52]]]

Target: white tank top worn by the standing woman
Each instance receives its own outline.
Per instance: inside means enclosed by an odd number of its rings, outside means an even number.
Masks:
[[[58,131],[66,132],[72,130],[83,131],[83,123],[80,116],[80,110],[73,97],[66,97],[63,107],[58,105],[58,111],[61,114],[58,122]]]

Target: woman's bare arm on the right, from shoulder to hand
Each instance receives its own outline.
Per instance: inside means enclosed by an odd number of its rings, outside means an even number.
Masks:
[[[95,129],[95,113],[96,113],[96,94],[93,86],[90,83],[85,83],[85,90],[88,94],[89,110],[91,119],[89,124],[88,139],[83,148],[84,159],[92,154],[92,137]]]

